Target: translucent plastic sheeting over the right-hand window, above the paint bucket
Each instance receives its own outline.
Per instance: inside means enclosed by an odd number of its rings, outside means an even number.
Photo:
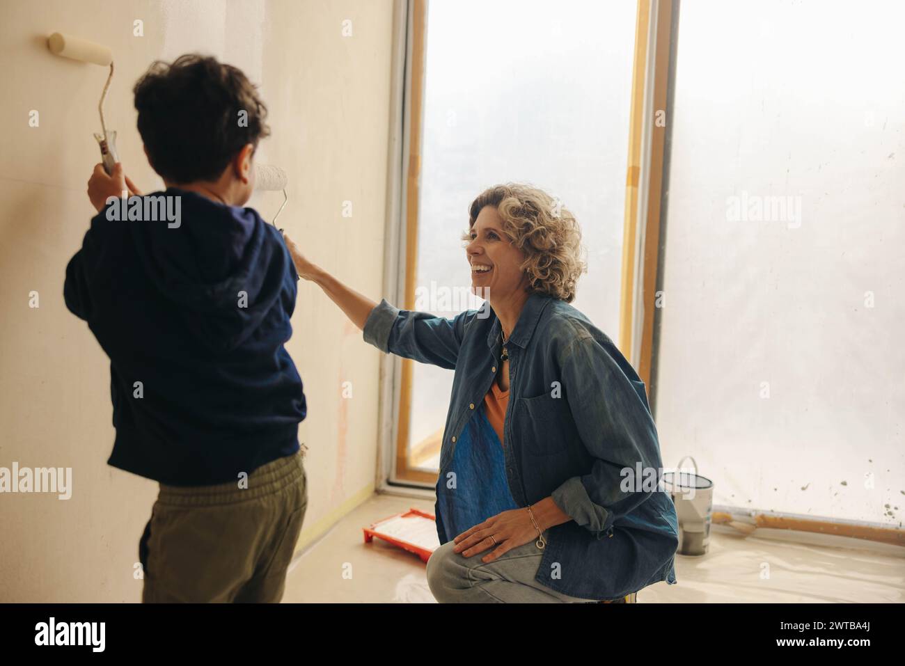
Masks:
[[[681,5],[657,422],[716,504],[901,525],[903,24]]]

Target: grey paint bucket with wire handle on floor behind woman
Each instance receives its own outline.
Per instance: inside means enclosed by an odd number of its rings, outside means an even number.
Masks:
[[[698,474],[698,463],[691,458],[694,473],[681,471],[663,473],[663,490],[670,494],[679,518],[679,553],[706,555],[710,548],[710,514],[713,511],[713,481]]]

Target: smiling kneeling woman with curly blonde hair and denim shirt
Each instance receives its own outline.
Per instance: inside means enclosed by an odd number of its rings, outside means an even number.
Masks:
[[[675,583],[678,520],[659,490],[644,385],[577,309],[575,217],[530,186],[474,200],[465,252],[484,310],[453,319],[379,304],[308,262],[367,342],[455,371],[437,480],[440,602],[621,602]],[[483,314],[482,314],[483,312]],[[653,475],[653,481],[651,480]]]

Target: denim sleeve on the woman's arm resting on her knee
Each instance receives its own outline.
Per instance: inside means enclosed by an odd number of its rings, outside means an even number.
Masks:
[[[560,368],[569,409],[593,463],[551,497],[578,525],[603,538],[615,519],[657,490],[662,459],[656,426],[643,382],[612,343],[577,338],[565,349]]]

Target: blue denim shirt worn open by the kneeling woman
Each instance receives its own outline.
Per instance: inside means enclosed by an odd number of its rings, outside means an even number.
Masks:
[[[365,322],[365,341],[381,351],[454,370],[436,485],[440,543],[552,497],[571,520],[549,528],[538,583],[600,600],[675,584],[678,518],[660,484],[643,381],[584,314],[531,293],[507,340],[510,400],[494,462],[485,448],[499,439],[480,435],[478,407],[499,370],[500,330],[489,302],[444,319],[381,300]],[[492,482],[500,464],[508,497]]]

